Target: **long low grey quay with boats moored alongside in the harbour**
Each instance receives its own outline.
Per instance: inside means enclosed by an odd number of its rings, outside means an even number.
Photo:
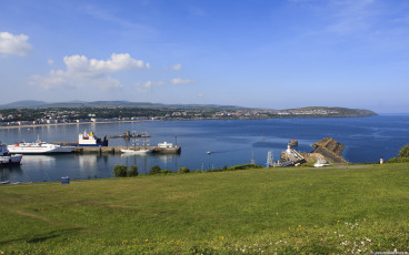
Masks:
[[[76,146],[73,153],[122,153],[121,150],[134,146]],[[180,154],[180,146],[159,147],[159,146],[137,146],[137,149],[152,149],[152,153],[159,154]]]

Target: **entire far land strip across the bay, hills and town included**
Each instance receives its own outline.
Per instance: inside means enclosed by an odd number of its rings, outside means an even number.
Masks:
[[[20,101],[0,105],[0,126],[174,120],[250,120],[281,118],[357,118],[370,110],[309,106],[286,110],[215,104],[154,104],[128,101],[46,103]]]

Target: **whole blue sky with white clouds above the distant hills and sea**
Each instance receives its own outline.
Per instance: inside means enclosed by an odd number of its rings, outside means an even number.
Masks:
[[[1,0],[0,104],[409,112],[407,0]]]

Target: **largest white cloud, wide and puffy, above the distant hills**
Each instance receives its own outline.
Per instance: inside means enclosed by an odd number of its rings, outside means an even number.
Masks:
[[[30,84],[38,85],[44,90],[57,86],[78,89],[93,85],[102,91],[120,89],[119,80],[109,76],[110,73],[130,69],[143,69],[142,60],[134,60],[128,53],[112,54],[107,61],[88,59],[84,55],[64,57],[67,70],[51,70],[48,76],[33,75]]]

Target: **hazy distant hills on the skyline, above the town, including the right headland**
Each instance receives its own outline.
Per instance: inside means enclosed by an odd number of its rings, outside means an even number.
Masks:
[[[235,105],[216,105],[216,104],[160,104],[148,102],[129,102],[129,101],[70,101],[48,103],[43,101],[18,101],[9,104],[0,105],[0,109],[63,109],[63,108],[144,108],[144,109],[200,109],[212,111],[236,111],[236,110],[258,110],[268,111],[269,115],[276,118],[308,118],[308,116],[370,116],[377,113],[370,110],[348,109],[348,108],[327,108],[327,106],[309,106],[287,110],[272,109],[251,109]],[[272,114],[272,115],[271,115]]]

